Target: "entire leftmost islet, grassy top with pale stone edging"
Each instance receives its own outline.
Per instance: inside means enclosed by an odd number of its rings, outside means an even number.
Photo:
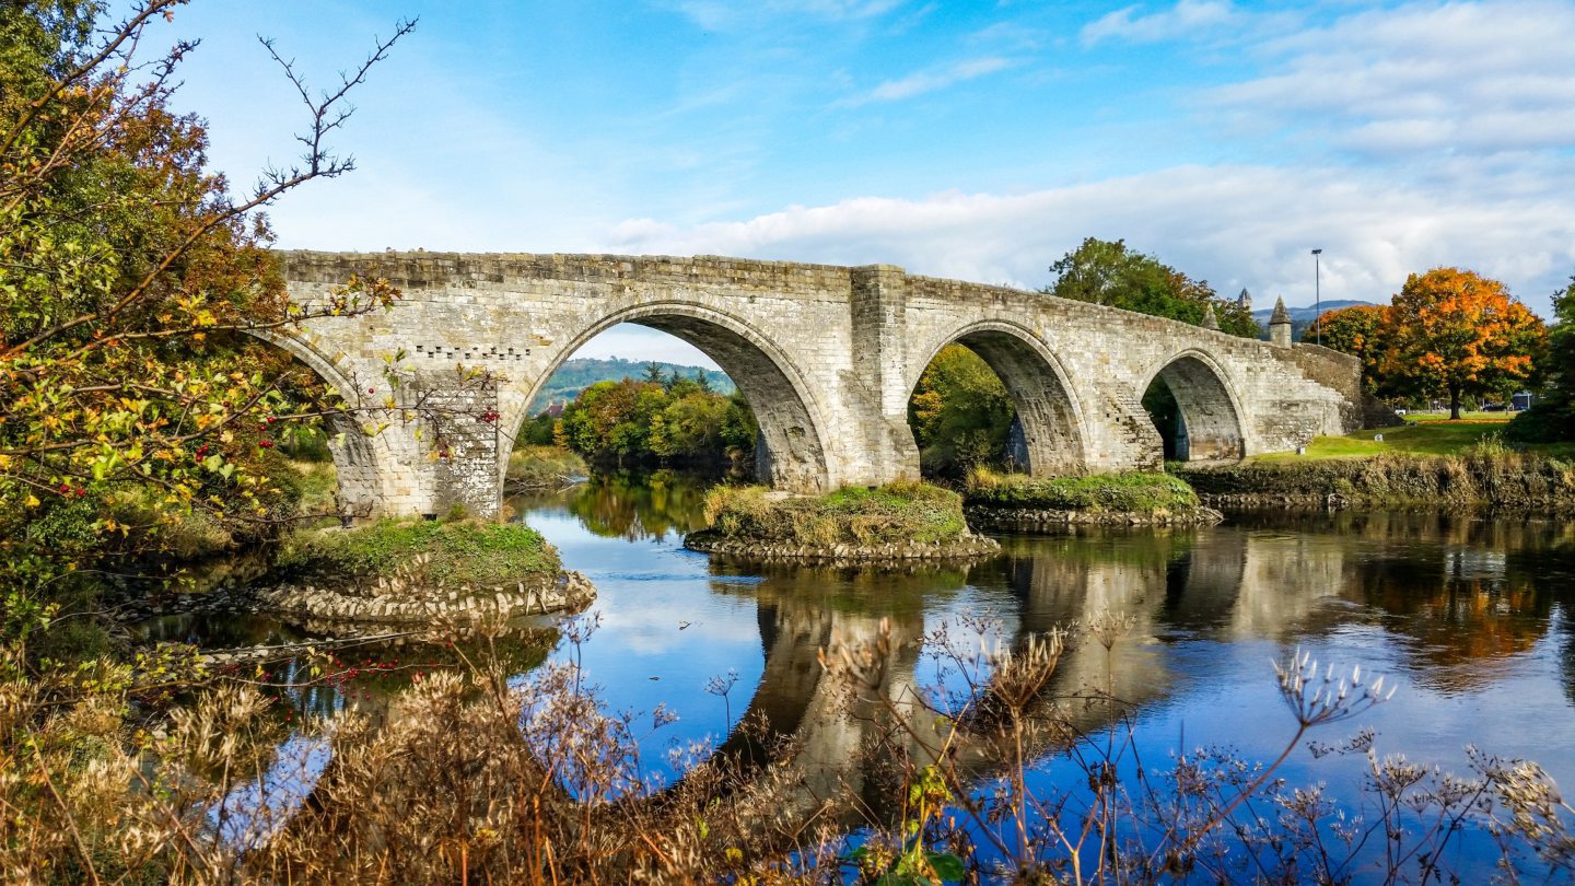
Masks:
[[[299,533],[279,552],[260,609],[313,624],[472,623],[581,610],[595,588],[520,523],[380,520]]]

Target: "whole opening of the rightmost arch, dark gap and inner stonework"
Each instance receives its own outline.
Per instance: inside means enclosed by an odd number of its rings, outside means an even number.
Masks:
[[[1181,355],[1143,393],[1166,460],[1233,462],[1246,456],[1241,411],[1221,370],[1202,355]]]

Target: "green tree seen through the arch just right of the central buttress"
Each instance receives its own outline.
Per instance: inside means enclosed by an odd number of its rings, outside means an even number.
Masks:
[[[909,427],[931,476],[962,476],[978,465],[1000,465],[1016,415],[1006,386],[980,355],[962,345],[940,348],[907,404]]]

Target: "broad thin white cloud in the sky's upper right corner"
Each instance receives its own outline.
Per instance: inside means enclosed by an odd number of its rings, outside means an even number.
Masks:
[[[1214,90],[1258,128],[1406,159],[1575,145],[1575,6],[1416,3],[1257,47],[1271,74]]]

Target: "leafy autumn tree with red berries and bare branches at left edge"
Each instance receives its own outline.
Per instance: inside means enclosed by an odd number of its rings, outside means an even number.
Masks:
[[[257,213],[351,169],[328,145],[345,96],[413,25],[335,90],[307,90],[280,60],[307,107],[302,156],[235,195],[206,169],[202,121],[172,109],[195,44],[135,55],[180,5],[142,0],[113,24],[85,0],[8,3],[0,16],[0,585],[146,553],[135,539],[158,544],[150,530],[192,509],[276,523],[271,449],[348,393],[247,333],[397,296],[350,281],[293,304]],[[387,391],[397,378],[376,382]],[[128,501],[148,527],[126,525]]]

